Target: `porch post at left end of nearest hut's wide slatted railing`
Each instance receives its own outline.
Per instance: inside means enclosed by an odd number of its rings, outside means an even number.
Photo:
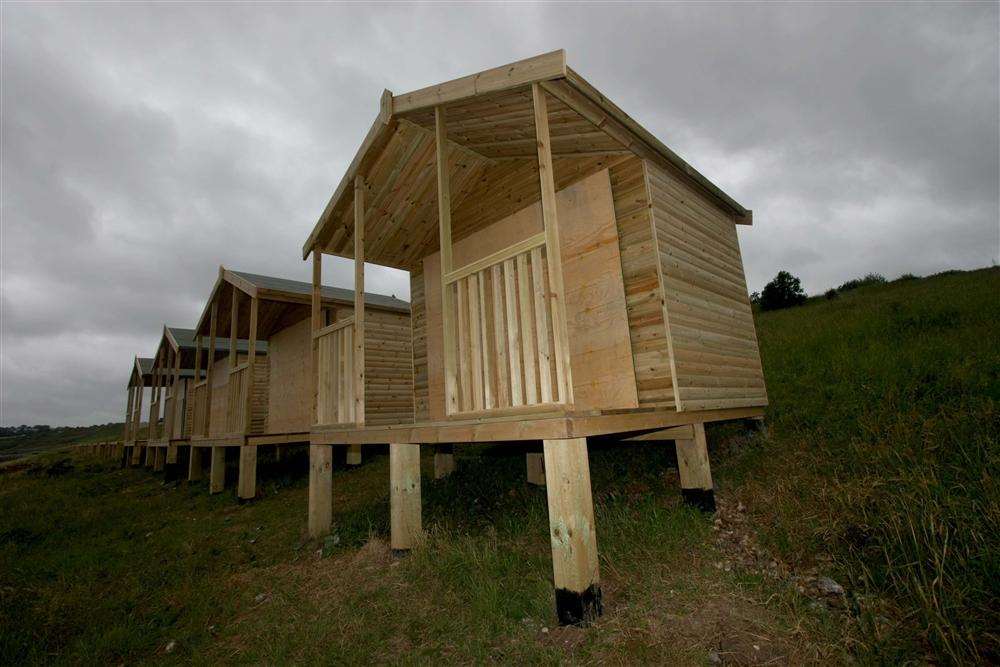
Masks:
[[[444,109],[434,107],[435,145],[437,149],[438,229],[441,245],[441,323],[444,339],[445,413],[458,411],[458,368],[455,359],[455,306],[453,289],[445,279],[452,270],[451,247],[451,177],[448,173],[448,131]]]

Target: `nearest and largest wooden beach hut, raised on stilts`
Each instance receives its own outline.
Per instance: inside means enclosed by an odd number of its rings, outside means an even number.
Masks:
[[[674,439],[714,507],[704,425],[767,403],[736,226],[751,212],[569,68],[563,51],[403,95],[371,130],[303,256],[410,272],[415,417],[373,424],[366,322],[349,362],[313,302],[309,526],[330,526],[330,449],[389,443],[391,543],[421,535],[419,446],[541,441],[556,606],[600,613],[587,438]],[[318,294],[318,287],[316,292]],[[351,376],[351,377],[348,377]]]

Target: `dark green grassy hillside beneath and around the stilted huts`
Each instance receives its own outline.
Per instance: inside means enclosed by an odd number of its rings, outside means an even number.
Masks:
[[[714,519],[679,503],[672,447],[592,444],[589,628],[555,626],[520,448],[459,448],[441,481],[425,456],[404,558],[384,453],[337,467],[322,543],[304,455],[262,457],[249,505],[42,457],[0,478],[0,663],[1000,660],[997,294],[987,270],[763,314],[769,429],[711,429]]]

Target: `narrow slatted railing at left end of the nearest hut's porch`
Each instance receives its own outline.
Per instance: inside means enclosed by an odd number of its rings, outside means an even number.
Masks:
[[[319,329],[316,338],[316,423],[353,423],[354,318],[348,317]]]

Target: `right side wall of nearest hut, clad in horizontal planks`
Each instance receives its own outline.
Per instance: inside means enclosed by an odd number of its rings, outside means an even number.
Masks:
[[[731,215],[646,162],[678,409],[767,404]]]

